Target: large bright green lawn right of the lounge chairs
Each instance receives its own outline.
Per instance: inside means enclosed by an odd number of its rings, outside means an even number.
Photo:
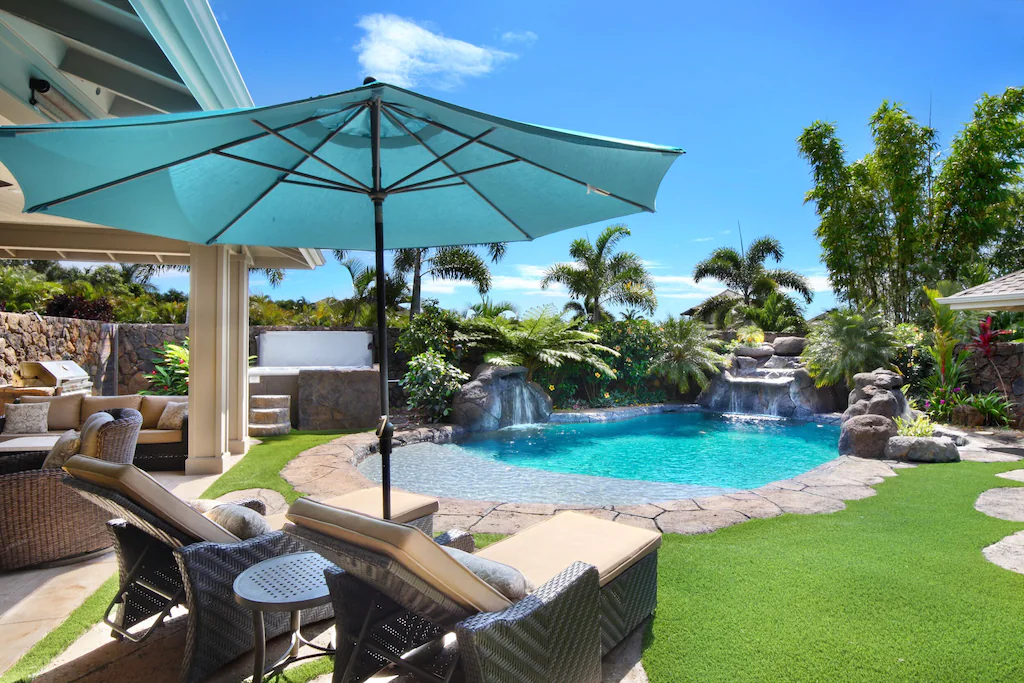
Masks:
[[[974,510],[1018,464],[899,470],[830,515],[667,536],[644,666],[676,681],[1022,681],[1024,575]]]

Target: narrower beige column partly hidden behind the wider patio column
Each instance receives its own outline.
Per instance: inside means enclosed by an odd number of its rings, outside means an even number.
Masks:
[[[230,257],[228,337],[227,447],[233,455],[249,449],[249,257]]]

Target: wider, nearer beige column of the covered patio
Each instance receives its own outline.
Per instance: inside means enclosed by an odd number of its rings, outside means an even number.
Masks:
[[[186,474],[224,471],[230,364],[230,250],[193,245],[188,273]]]

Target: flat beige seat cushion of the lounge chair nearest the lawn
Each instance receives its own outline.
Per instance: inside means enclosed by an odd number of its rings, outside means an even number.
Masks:
[[[514,566],[537,586],[572,562],[586,562],[597,567],[605,586],[660,545],[657,531],[562,512],[487,546],[476,556]]]

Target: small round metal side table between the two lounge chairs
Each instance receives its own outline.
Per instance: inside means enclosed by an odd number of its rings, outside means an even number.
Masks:
[[[253,612],[253,683],[263,676],[299,659],[334,654],[334,648],[314,645],[300,633],[303,609],[331,601],[324,569],[334,566],[316,553],[294,553],[254,564],[234,580],[234,601]],[[266,632],[263,612],[292,613],[292,644],[270,667],[266,667]],[[299,656],[299,648],[308,645],[319,652]]]

